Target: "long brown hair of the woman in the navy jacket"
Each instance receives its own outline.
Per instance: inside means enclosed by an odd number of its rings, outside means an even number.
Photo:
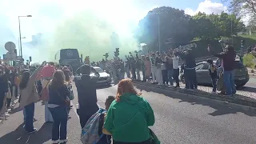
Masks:
[[[62,70],[56,70],[54,72],[53,79],[50,82],[50,87],[53,89],[58,89],[65,85],[65,75]]]

